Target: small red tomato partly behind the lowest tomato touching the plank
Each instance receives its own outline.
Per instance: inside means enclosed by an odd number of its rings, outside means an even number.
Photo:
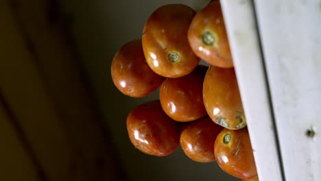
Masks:
[[[180,134],[180,146],[185,154],[196,162],[213,162],[213,147],[217,134],[223,129],[209,117],[187,123]]]

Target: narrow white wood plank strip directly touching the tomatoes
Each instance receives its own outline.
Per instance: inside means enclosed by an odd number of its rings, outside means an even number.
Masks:
[[[221,4],[259,179],[282,180],[252,1]]]

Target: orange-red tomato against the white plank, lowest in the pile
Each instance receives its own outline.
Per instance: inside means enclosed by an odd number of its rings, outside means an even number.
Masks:
[[[231,176],[241,179],[257,176],[257,167],[246,128],[222,130],[216,138],[214,152],[219,167]]]

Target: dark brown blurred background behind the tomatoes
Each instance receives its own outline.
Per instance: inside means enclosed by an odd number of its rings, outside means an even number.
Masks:
[[[0,180],[238,180],[180,147],[148,156],[128,138],[134,99],[112,84],[121,45],[160,5],[208,1],[0,2]]]

